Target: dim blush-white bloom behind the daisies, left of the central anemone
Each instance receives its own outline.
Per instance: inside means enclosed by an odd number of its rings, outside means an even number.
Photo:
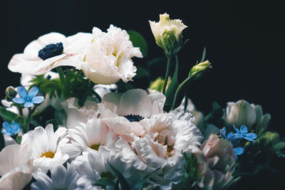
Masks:
[[[79,123],[86,123],[92,118],[96,118],[97,102],[86,100],[83,107],[78,104],[78,99],[71,97],[68,100],[61,102],[63,110],[66,112],[66,127],[71,129],[76,127]]]

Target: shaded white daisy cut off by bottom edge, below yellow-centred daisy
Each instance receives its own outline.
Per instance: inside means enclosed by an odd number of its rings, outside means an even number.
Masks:
[[[31,189],[44,190],[44,189],[77,189],[77,180],[79,174],[76,171],[76,167],[71,164],[67,164],[67,169],[63,165],[57,165],[51,169],[51,177],[46,173],[40,172],[36,176],[36,182],[31,184]]]

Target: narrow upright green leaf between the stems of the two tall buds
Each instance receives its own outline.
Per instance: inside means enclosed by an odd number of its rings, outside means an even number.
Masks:
[[[166,101],[165,101],[164,110],[166,112],[168,112],[171,109],[172,102],[173,102],[174,97],[175,97],[175,92],[176,92],[178,86],[180,85],[178,83],[178,80],[177,80],[177,73],[178,73],[178,64],[176,64],[176,66],[175,66],[175,73],[173,74],[173,78],[171,80],[171,83],[170,83],[170,85],[168,85],[168,88],[167,88],[166,93],[165,93]],[[182,98],[183,98],[183,95],[182,95]],[[181,99],[178,98],[177,102],[181,102],[180,100],[182,100],[182,98]],[[173,108],[175,108],[175,107],[173,107]]]

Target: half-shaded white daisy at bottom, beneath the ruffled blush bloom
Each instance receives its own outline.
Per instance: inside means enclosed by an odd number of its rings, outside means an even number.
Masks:
[[[115,167],[132,186],[140,179],[142,173],[133,169],[133,166],[120,160],[118,154],[105,146],[100,146],[97,151],[83,152],[74,161],[81,178],[77,185],[80,189],[101,189],[101,186],[94,186],[94,182],[101,177],[115,179],[115,174],[110,165]],[[109,165],[110,164],[110,165]]]

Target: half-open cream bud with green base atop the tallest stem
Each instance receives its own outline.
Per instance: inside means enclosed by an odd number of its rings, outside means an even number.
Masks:
[[[181,20],[170,20],[169,14],[160,14],[160,21],[149,21],[155,42],[167,53],[182,46],[182,31],[187,28]]]

